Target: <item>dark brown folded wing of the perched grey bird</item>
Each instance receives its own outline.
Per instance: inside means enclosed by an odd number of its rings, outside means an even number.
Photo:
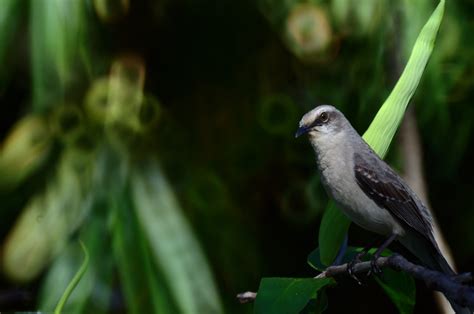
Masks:
[[[378,157],[363,158],[354,154],[357,184],[378,206],[388,210],[398,221],[408,225],[430,241],[434,241],[427,212],[402,179]]]

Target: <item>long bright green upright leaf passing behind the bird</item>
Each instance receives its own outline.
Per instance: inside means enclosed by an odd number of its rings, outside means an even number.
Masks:
[[[382,158],[388,151],[390,142],[428,63],[443,19],[444,4],[445,1],[441,0],[421,30],[400,79],[363,135],[364,140]],[[325,265],[330,265],[334,260],[344,239],[343,235],[350,225],[348,218],[339,211],[340,209],[336,206],[329,205],[321,221],[319,247],[321,261]]]

